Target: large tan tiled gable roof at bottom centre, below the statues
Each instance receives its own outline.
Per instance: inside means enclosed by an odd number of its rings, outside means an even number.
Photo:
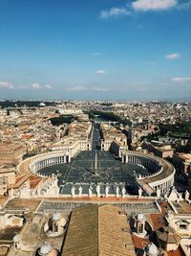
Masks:
[[[112,205],[74,209],[62,255],[135,256],[126,216],[119,212],[121,209]]]

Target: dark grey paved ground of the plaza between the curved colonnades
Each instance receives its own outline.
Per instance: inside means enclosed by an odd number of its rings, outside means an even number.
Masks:
[[[131,163],[122,163],[110,151],[81,151],[67,164],[57,164],[38,171],[39,175],[57,175],[60,193],[71,195],[73,186],[82,186],[83,193],[88,193],[89,186],[110,186],[110,193],[116,193],[117,187],[123,187],[130,194],[138,193],[136,175],[150,175],[143,166]],[[130,191],[128,191],[130,190]]]

